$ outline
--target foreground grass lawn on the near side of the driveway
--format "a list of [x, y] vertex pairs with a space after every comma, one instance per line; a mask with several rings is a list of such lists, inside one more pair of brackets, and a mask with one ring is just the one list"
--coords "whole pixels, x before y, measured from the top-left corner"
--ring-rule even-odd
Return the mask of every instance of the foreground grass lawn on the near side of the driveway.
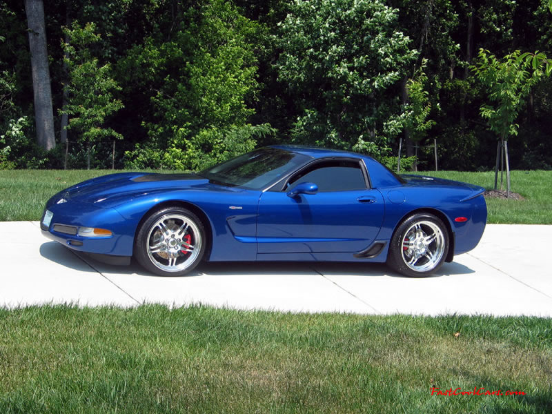
[[3, 414], [552, 412], [549, 319], [43, 306], [0, 332]]

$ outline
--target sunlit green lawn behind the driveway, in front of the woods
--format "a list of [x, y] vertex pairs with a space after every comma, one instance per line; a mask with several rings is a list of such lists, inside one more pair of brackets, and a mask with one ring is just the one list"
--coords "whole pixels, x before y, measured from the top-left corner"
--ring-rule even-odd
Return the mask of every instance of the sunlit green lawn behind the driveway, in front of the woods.
[[[63, 188], [112, 170], [0, 171], [0, 221], [39, 220], [46, 200]], [[493, 172], [424, 172], [493, 188]], [[552, 171], [512, 171], [512, 191], [524, 200], [487, 199], [489, 223], [552, 224]]]

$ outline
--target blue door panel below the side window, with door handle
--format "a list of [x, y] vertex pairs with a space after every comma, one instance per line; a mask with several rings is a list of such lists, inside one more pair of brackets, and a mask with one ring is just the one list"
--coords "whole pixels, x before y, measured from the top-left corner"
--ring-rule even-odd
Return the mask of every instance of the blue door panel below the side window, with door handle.
[[328, 191], [288, 197], [266, 191], [259, 201], [258, 253], [357, 252], [380, 231], [378, 190]]

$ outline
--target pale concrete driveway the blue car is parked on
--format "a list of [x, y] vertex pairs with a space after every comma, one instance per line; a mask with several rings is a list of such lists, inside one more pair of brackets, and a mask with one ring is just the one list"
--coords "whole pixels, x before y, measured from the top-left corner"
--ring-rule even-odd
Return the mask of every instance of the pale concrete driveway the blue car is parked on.
[[480, 245], [411, 279], [381, 264], [216, 263], [187, 277], [81, 257], [38, 221], [0, 223], [0, 306], [210, 304], [293, 312], [552, 316], [552, 226], [488, 225]]

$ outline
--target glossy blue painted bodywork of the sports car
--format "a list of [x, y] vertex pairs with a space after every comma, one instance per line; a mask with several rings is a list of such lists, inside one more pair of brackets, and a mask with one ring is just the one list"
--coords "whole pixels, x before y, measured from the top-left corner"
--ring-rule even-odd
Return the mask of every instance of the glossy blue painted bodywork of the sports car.
[[[482, 236], [486, 204], [481, 187], [431, 177], [402, 179], [371, 157], [353, 152], [271, 148], [294, 155], [290, 159], [295, 164], [293, 170], [281, 166], [266, 180], [250, 181], [266, 181], [264, 188], [230, 186], [190, 174], [106, 175], [83, 181], [48, 200], [46, 209], [53, 218], [50, 226], [42, 226], [43, 233], [75, 250], [131, 256], [141, 222], [162, 206], [180, 205], [203, 219], [209, 234], [206, 259], [210, 261], [385, 262], [397, 225], [421, 210], [446, 222], [454, 237], [454, 254], [473, 249]], [[295, 171], [330, 161], [356, 163], [359, 174], [362, 171], [366, 177], [364, 188], [320, 191], [317, 188], [324, 183], [313, 182], [298, 184], [292, 188], [293, 194], [286, 191], [286, 181]], [[66, 202], [57, 204], [62, 197]], [[455, 217], [468, 220], [459, 223]], [[88, 239], [55, 232], [55, 224], [106, 228], [113, 235]], [[70, 245], [70, 241], [82, 242], [82, 246]], [[386, 243], [379, 255], [370, 259], [353, 256], [374, 242]]]

